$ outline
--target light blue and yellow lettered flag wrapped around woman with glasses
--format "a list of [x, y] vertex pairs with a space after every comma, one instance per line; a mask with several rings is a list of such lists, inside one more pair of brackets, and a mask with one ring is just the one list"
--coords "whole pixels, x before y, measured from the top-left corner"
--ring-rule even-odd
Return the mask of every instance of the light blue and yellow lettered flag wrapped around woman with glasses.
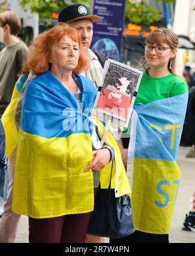
[[127, 168], [137, 231], [167, 234], [181, 172], [176, 159], [188, 93], [134, 107]]

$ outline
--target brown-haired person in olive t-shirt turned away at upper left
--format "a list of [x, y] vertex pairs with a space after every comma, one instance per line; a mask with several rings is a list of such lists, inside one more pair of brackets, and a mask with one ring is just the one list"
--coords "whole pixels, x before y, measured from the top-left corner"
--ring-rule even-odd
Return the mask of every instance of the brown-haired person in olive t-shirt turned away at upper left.
[[0, 113], [10, 103], [18, 73], [27, 57], [27, 46], [17, 35], [21, 30], [18, 14], [12, 11], [0, 14], [0, 28], [3, 29], [5, 48], [0, 52]]

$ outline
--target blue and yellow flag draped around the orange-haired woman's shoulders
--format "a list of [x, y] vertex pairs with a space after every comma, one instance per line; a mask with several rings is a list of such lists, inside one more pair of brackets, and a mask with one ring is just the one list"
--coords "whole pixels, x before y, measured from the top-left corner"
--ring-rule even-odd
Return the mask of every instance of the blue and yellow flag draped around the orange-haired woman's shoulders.
[[97, 91], [87, 78], [75, 78], [81, 104], [49, 71], [27, 86], [12, 201], [18, 214], [46, 218], [94, 209], [92, 171], [85, 168], [92, 161], [88, 116]]

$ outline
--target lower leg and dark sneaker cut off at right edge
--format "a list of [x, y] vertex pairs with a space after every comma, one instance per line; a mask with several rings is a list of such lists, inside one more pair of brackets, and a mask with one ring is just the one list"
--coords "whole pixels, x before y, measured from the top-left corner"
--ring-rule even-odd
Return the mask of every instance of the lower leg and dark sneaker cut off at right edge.
[[195, 190], [193, 191], [190, 199], [190, 211], [186, 214], [183, 227], [181, 227], [181, 229], [183, 229], [183, 231], [195, 232]]

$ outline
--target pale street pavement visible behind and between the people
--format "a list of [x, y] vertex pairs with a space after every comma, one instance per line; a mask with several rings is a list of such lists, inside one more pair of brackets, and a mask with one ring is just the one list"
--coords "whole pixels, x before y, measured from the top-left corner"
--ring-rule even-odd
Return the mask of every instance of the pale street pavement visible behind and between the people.
[[[170, 229], [170, 243], [195, 243], [195, 232], [182, 231], [185, 214], [189, 211], [190, 197], [195, 189], [195, 158], [186, 158], [189, 148], [179, 148], [177, 164], [181, 168], [181, 183], [175, 204], [174, 218]], [[28, 218], [22, 216], [16, 236], [17, 243], [28, 243]], [[105, 238], [105, 243], [109, 239]]]

